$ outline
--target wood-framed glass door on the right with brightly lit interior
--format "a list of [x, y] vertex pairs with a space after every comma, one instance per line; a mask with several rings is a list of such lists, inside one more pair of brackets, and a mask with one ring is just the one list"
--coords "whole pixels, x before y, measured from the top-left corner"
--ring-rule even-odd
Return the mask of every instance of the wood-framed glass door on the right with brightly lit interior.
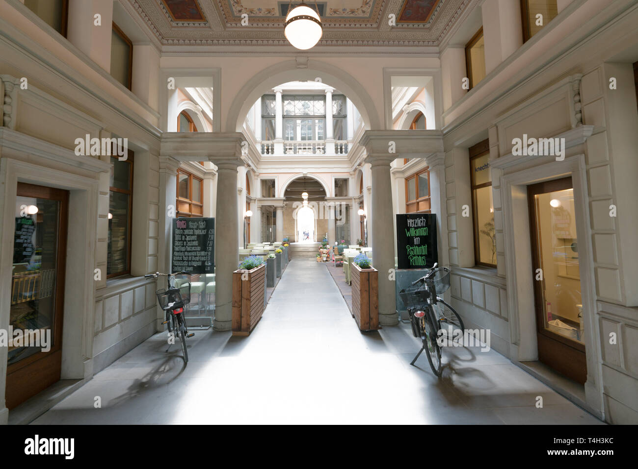
[[572, 178], [528, 186], [538, 359], [587, 379]]

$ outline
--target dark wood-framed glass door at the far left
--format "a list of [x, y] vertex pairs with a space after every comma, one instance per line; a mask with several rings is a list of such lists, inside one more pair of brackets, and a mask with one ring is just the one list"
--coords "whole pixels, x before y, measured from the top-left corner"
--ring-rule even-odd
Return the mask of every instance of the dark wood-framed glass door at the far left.
[[6, 407], [60, 379], [68, 192], [18, 183]]

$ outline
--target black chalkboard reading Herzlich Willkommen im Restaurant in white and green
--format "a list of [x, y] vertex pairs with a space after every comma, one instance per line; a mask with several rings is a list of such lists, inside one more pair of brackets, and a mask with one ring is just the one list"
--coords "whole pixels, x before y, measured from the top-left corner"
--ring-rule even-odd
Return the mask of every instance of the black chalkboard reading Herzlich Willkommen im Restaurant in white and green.
[[397, 267], [429, 268], [437, 253], [436, 213], [397, 213]]

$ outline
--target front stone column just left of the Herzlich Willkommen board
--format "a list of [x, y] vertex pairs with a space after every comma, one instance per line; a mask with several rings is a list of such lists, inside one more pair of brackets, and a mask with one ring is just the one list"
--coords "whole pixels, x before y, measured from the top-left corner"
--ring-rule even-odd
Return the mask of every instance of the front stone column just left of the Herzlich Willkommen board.
[[372, 206], [371, 213], [366, 215], [368, 229], [372, 231], [373, 267], [379, 271], [379, 323], [382, 326], [392, 326], [398, 322], [394, 281], [388, 278], [389, 270], [394, 268], [390, 163], [395, 157], [396, 155], [388, 154], [366, 157], [366, 162], [371, 164], [372, 173]]

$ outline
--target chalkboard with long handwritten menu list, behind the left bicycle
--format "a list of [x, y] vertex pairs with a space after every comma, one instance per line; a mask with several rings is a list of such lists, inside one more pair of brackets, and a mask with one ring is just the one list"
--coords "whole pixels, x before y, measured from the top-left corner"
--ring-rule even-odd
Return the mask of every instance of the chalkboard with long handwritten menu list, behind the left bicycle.
[[172, 272], [190, 275], [215, 271], [215, 219], [173, 219]]

